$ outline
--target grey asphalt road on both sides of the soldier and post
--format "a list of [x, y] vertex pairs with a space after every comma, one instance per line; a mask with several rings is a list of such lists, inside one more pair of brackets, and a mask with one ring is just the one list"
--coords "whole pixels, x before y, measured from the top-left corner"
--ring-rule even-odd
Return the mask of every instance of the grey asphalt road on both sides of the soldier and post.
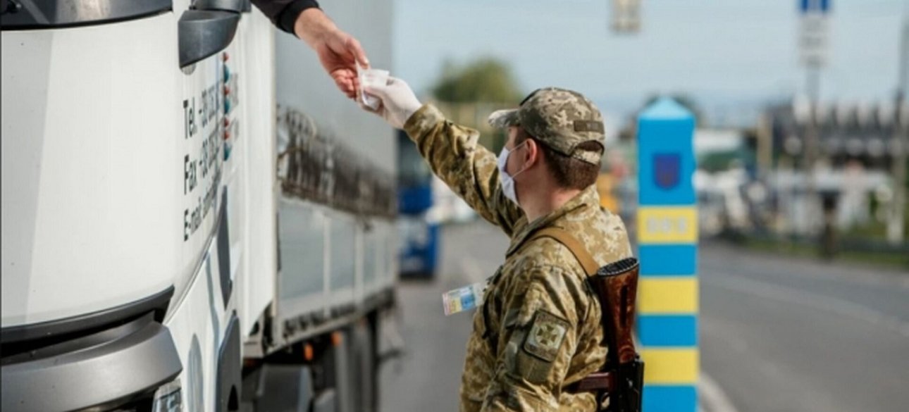
[[[406, 347], [383, 367], [384, 412], [457, 410], [473, 313], [445, 317], [441, 296], [492, 275], [507, 239], [478, 222], [441, 241], [435, 280], [399, 288]], [[699, 274], [707, 412], [909, 410], [909, 273], [706, 244]]]

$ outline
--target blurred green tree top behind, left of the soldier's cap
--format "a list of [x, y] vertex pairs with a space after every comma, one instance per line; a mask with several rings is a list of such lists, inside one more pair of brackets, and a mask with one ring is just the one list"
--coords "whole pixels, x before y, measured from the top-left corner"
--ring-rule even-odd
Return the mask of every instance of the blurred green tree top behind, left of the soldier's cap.
[[445, 62], [432, 93], [447, 103], [517, 103], [521, 98], [511, 67], [495, 57], [480, 57], [466, 65]]

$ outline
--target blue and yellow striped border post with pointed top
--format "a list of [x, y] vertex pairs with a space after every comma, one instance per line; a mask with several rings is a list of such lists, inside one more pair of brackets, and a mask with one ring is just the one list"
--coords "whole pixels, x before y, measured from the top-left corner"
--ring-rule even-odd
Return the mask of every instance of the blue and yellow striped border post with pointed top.
[[637, 233], [641, 260], [637, 333], [644, 412], [695, 412], [697, 208], [694, 116], [664, 98], [638, 117]]

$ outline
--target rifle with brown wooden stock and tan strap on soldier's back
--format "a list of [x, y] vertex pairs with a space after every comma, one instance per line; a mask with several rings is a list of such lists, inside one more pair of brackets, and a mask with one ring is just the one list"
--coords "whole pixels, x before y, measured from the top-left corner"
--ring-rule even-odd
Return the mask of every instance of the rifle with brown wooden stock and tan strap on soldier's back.
[[[626, 257], [597, 268], [599, 265], [587, 248], [563, 229], [546, 227], [529, 240], [539, 237], [552, 237], [567, 247], [584, 267], [587, 281], [600, 303], [603, 340], [609, 348], [604, 366], [568, 389], [595, 392], [597, 410], [602, 412], [640, 412], [644, 361], [634, 350], [632, 337], [640, 267], [637, 259]], [[608, 405], [604, 407], [607, 399]]]

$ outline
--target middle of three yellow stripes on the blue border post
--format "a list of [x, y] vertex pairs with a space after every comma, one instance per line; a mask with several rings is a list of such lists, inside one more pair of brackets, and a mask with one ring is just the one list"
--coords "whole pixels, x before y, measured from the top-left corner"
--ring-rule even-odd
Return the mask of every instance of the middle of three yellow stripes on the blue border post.
[[696, 277], [642, 277], [638, 282], [637, 310], [641, 314], [697, 313]]

